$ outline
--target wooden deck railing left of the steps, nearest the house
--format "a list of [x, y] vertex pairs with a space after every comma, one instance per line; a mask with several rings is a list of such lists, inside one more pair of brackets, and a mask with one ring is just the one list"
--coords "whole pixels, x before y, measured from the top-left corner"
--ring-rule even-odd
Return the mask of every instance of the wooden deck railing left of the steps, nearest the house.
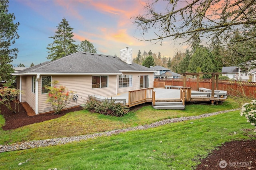
[[128, 93], [128, 107], [139, 105], [146, 102], [154, 102], [153, 95], [155, 95], [154, 88], [145, 88], [129, 91]]

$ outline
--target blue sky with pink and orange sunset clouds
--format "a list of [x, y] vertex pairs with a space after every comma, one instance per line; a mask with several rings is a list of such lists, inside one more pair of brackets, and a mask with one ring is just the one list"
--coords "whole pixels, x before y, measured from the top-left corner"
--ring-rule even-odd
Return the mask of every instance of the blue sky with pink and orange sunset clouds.
[[[70, 27], [74, 28], [73, 39], [76, 44], [82, 40], [90, 41], [97, 53], [120, 55], [120, 49], [131, 47], [133, 57], [138, 50], [153, 53], [160, 51], [164, 57], [172, 57], [175, 51], [185, 51], [186, 46], [175, 46], [170, 39], [162, 45], [155, 42], [142, 42], [139, 30], [131, 17], [143, 14], [143, 4], [139, 0], [10, 0], [9, 12], [14, 13], [19, 22], [15, 47], [19, 49], [18, 57], [13, 61], [16, 67], [23, 63], [29, 67], [33, 62], [39, 64], [48, 61], [47, 45], [53, 40], [58, 24], [66, 18]], [[161, 6], [162, 5], [162, 6]], [[159, 7], [164, 9], [165, 3]], [[150, 30], [145, 38], [150, 38], [154, 30]]]

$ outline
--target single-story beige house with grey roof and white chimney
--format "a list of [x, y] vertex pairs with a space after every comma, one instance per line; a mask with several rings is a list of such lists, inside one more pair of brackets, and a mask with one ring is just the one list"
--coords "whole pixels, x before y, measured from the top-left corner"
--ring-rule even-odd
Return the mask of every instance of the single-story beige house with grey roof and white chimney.
[[52, 111], [44, 85], [54, 80], [78, 95], [66, 108], [85, 103], [88, 95], [117, 95], [153, 87], [154, 81], [154, 71], [132, 63], [132, 49], [128, 47], [120, 51], [120, 58], [80, 51], [13, 75], [17, 76], [17, 88], [23, 91], [19, 101], [28, 103], [36, 114]]

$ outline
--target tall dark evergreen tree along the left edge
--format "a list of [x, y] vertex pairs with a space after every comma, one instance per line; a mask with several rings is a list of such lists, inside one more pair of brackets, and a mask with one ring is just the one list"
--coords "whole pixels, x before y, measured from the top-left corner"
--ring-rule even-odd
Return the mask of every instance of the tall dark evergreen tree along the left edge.
[[10, 64], [18, 56], [18, 48], [11, 48], [19, 38], [19, 23], [14, 24], [15, 16], [8, 13], [8, 0], [0, 1], [0, 80], [11, 82], [14, 69]]

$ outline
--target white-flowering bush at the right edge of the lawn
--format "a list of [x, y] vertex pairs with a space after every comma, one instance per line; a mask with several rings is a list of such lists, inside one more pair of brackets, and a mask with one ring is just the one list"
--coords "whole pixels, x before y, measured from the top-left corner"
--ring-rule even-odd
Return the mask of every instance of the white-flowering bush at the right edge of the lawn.
[[252, 100], [250, 103], [242, 105], [240, 115], [246, 117], [247, 122], [254, 126], [254, 131], [256, 132], [256, 100]]

